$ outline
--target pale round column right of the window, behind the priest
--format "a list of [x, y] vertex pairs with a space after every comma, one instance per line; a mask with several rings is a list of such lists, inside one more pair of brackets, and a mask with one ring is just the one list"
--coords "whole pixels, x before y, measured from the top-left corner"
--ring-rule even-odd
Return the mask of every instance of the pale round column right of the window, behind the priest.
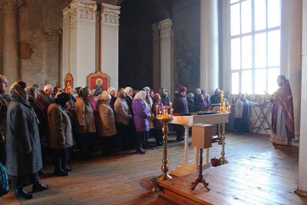
[[280, 3], [280, 73], [289, 79], [291, 86], [297, 138], [301, 118], [302, 0], [281, 0]]

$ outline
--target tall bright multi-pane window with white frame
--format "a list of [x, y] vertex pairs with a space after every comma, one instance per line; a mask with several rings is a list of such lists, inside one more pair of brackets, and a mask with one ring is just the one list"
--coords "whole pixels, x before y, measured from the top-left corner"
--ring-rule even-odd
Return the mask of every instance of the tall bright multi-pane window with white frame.
[[273, 93], [280, 62], [280, 0], [230, 0], [230, 41], [231, 93]]

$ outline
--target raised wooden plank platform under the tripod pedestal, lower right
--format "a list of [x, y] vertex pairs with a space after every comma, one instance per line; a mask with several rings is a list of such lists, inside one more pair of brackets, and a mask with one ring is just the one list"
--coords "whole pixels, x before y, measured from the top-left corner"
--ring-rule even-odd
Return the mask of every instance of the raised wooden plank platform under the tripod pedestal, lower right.
[[179, 204], [306, 204], [297, 189], [298, 147], [283, 147], [203, 171], [203, 184], [191, 190], [198, 173], [160, 183], [161, 196]]

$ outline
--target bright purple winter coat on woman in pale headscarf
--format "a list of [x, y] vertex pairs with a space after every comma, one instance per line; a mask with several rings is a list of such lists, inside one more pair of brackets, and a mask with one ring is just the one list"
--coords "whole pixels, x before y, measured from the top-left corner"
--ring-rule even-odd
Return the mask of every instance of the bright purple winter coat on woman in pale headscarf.
[[150, 118], [150, 112], [144, 101], [140, 101], [138, 99], [134, 100], [132, 102], [132, 110], [134, 114], [133, 120], [135, 130], [137, 132], [149, 131], [150, 127], [148, 118]]

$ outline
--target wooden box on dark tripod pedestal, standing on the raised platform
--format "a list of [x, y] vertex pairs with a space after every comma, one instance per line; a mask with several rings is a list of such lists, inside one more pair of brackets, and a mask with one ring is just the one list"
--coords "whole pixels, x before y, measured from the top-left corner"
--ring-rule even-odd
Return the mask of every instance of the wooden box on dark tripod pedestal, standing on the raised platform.
[[203, 183], [206, 189], [209, 191], [208, 184], [203, 178], [203, 149], [212, 147], [212, 127], [211, 124], [192, 124], [192, 145], [193, 147], [200, 148], [200, 159], [199, 159], [199, 175], [198, 178], [192, 182], [194, 186], [191, 188], [195, 189], [198, 183]]

